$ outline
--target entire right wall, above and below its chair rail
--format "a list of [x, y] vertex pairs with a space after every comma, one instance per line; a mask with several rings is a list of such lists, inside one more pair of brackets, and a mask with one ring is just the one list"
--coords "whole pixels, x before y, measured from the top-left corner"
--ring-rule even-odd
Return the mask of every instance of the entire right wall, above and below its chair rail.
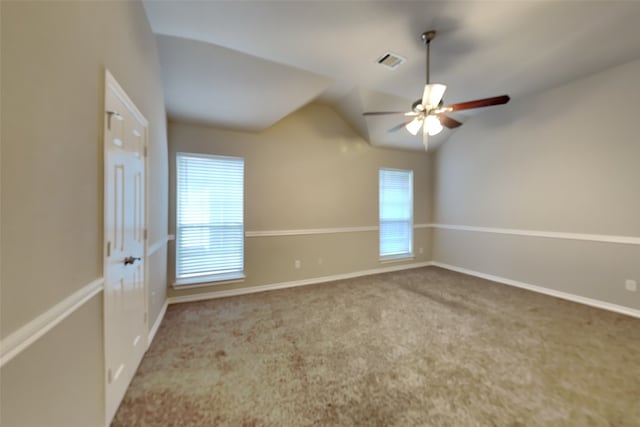
[[[441, 224], [640, 237], [640, 61], [473, 117], [435, 157]], [[434, 260], [631, 308], [640, 246], [437, 230]]]

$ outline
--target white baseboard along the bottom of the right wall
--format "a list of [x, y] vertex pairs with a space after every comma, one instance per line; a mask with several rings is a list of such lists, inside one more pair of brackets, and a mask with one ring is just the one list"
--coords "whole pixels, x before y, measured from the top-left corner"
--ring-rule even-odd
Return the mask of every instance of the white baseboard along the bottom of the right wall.
[[636, 310], [630, 307], [624, 307], [622, 305], [599, 301], [596, 299], [587, 298], [568, 292], [557, 291], [555, 289], [549, 289], [542, 286], [531, 285], [529, 283], [520, 282], [518, 280], [507, 279], [505, 277], [495, 276], [493, 274], [481, 273], [479, 271], [470, 270], [468, 268], [458, 267], [455, 265], [444, 264], [442, 262], [432, 261], [431, 265], [434, 267], [441, 267], [447, 270], [456, 271], [458, 273], [468, 274], [469, 276], [491, 280], [492, 282], [502, 283], [504, 285], [514, 286], [516, 288], [526, 289], [540, 294], [550, 295], [552, 297], [562, 298], [567, 301], [577, 302], [591, 307], [601, 308], [603, 310], [613, 311], [615, 313], [625, 314], [627, 316], [640, 319], [640, 310]]

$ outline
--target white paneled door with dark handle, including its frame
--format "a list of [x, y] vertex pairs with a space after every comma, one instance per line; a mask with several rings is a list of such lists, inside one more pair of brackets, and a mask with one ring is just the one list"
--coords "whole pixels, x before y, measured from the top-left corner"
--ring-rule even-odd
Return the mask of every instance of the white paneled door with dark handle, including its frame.
[[148, 124], [107, 71], [105, 90], [104, 346], [106, 422], [147, 346], [145, 153]]

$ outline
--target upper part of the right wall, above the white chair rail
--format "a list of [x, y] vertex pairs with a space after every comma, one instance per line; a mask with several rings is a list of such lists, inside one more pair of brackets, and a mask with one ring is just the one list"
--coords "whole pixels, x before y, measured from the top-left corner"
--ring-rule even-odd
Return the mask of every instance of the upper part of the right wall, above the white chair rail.
[[469, 120], [437, 152], [435, 221], [640, 236], [640, 60]]

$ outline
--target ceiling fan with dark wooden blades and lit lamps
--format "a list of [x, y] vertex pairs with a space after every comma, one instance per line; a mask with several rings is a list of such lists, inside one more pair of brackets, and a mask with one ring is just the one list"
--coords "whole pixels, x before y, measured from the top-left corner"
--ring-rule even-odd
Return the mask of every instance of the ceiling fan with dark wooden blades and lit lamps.
[[392, 127], [389, 129], [389, 132], [395, 132], [405, 127], [412, 135], [417, 135], [420, 127], [422, 127], [422, 142], [424, 143], [425, 150], [427, 150], [429, 146], [429, 135], [436, 135], [440, 133], [443, 125], [449, 129], [457, 128], [462, 125], [462, 123], [456, 119], [447, 116], [447, 113], [506, 104], [510, 99], [509, 95], [501, 95], [446, 106], [443, 105], [442, 97], [447, 86], [440, 83], [429, 83], [429, 45], [435, 36], [435, 31], [427, 31], [422, 33], [420, 36], [424, 44], [427, 46], [427, 83], [424, 86], [422, 99], [418, 99], [411, 106], [412, 111], [371, 111], [363, 114], [365, 116], [402, 114], [404, 116], [413, 117], [404, 123], [400, 123], [399, 125]]

